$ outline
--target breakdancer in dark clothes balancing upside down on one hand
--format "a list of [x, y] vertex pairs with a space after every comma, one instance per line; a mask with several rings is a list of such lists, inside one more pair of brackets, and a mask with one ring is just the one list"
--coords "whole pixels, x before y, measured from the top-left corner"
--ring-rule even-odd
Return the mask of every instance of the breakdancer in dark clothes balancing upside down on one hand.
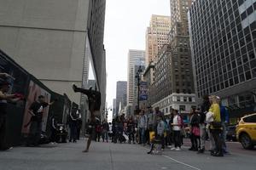
[[96, 112], [100, 111], [101, 108], [101, 93], [97, 92], [96, 90], [78, 88], [76, 85], [73, 84], [73, 91], [75, 93], [79, 92], [82, 94], [87, 95], [89, 99], [89, 110], [90, 110], [90, 124], [89, 124], [89, 138], [86, 144], [86, 149], [83, 152], [88, 152], [90, 148], [90, 142], [95, 134], [95, 127], [96, 127]]

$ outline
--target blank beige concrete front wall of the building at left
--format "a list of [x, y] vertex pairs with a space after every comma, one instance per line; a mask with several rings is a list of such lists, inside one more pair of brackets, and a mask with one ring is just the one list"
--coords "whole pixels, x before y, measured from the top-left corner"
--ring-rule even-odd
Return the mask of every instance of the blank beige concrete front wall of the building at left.
[[47, 87], [76, 103], [80, 94], [71, 93], [71, 85], [82, 84], [89, 3], [0, 1], [0, 47]]

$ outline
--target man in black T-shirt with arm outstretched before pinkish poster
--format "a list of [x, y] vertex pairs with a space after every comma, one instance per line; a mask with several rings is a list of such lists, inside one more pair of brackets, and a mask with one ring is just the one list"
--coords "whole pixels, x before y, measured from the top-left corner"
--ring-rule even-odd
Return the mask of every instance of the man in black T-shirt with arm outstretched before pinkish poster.
[[32, 103], [29, 108], [29, 113], [32, 115], [29, 134], [26, 142], [26, 146], [38, 146], [39, 139], [42, 133], [42, 121], [44, 115], [44, 108], [49, 105], [53, 105], [55, 101], [47, 103], [44, 101], [44, 96], [39, 95], [38, 101]]

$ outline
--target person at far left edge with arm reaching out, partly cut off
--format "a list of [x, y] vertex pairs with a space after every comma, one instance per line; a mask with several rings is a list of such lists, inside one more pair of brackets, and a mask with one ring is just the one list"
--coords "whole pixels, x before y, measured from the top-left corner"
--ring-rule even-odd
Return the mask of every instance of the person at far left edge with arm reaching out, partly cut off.
[[[2, 75], [3, 77], [3, 75]], [[10, 83], [3, 80], [0, 82], [0, 150], [9, 150], [9, 144], [6, 144], [6, 121], [8, 101], [16, 102], [20, 100], [15, 94], [9, 92]]]

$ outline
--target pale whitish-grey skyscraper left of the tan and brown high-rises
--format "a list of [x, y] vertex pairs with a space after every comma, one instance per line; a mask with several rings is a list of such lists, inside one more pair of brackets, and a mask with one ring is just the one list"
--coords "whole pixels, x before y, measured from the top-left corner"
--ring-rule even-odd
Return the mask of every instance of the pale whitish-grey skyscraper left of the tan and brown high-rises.
[[130, 49], [128, 53], [127, 105], [132, 105], [135, 90], [135, 65], [145, 65], [145, 51]]

